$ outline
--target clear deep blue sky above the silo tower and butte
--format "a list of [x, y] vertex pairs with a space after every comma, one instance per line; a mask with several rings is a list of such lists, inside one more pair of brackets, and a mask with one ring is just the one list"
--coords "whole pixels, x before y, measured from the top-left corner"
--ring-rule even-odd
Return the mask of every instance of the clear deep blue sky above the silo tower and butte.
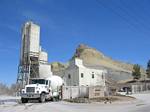
[[113, 59], [146, 67], [149, 6], [149, 0], [0, 0], [0, 82], [16, 81], [21, 27], [28, 20], [41, 26], [49, 62], [66, 62], [84, 43]]

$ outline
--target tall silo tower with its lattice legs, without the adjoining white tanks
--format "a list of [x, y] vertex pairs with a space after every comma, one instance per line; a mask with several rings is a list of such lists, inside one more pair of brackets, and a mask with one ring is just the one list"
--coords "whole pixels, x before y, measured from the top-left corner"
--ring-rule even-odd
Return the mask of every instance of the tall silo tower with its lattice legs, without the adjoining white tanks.
[[39, 49], [40, 49], [40, 27], [29, 21], [22, 28], [22, 42], [20, 63], [18, 67], [18, 81], [22, 85], [28, 83], [29, 78], [39, 75]]

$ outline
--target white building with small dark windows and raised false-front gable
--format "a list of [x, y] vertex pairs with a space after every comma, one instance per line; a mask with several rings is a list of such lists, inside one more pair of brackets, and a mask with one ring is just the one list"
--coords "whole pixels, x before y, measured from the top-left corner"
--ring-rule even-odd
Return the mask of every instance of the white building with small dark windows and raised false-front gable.
[[87, 67], [81, 59], [75, 58], [69, 67], [59, 72], [66, 86], [105, 86], [104, 69]]

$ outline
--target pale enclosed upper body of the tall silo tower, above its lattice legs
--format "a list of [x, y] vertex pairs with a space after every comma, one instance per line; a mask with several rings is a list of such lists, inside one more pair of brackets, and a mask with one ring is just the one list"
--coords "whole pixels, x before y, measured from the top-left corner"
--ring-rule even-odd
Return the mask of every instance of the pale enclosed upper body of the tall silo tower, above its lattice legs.
[[[27, 22], [22, 28], [22, 46], [20, 63], [23, 64], [27, 57], [38, 57], [40, 49], [40, 27], [33, 22]], [[28, 60], [27, 60], [28, 61]]]

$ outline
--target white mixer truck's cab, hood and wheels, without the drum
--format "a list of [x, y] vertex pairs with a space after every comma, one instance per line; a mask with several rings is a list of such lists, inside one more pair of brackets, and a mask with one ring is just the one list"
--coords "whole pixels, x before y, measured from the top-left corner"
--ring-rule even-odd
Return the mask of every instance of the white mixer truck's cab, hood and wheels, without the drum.
[[29, 84], [22, 89], [21, 101], [27, 103], [29, 100], [37, 99], [39, 102], [45, 102], [45, 100], [58, 97], [57, 94], [52, 91], [51, 80], [46, 79], [30, 79]]

